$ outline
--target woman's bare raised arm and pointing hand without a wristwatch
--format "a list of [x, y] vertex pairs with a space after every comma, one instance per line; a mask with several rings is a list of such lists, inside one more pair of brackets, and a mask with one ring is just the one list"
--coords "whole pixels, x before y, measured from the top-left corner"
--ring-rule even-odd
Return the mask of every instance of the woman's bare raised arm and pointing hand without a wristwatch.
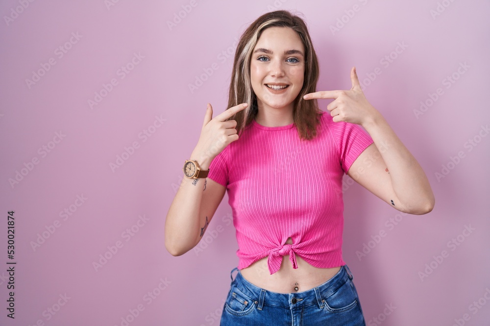
[[334, 99], [327, 109], [334, 122], [364, 127], [374, 144], [352, 163], [347, 174], [393, 208], [410, 214], [426, 214], [434, 207], [429, 180], [415, 157], [396, 136], [385, 118], [364, 96], [355, 67], [350, 90], [310, 93], [304, 99]]

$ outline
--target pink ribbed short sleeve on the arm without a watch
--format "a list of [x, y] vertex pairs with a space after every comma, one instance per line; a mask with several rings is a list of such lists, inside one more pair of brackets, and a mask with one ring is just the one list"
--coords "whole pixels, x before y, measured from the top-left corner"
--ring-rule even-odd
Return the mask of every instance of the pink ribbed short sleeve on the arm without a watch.
[[373, 143], [369, 134], [359, 125], [348, 122], [331, 122], [338, 150], [342, 169], [345, 173], [356, 158]]

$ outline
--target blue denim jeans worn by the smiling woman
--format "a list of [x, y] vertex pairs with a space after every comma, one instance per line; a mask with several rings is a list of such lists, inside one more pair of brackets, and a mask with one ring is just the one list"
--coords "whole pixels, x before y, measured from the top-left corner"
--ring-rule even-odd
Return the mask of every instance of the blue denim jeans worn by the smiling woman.
[[366, 326], [352, 278], [349, 267], [343, 265], [318, 287], [283, 294], [253, 285], [238, 270], [235, 280], [231, 277], [220, 325]]

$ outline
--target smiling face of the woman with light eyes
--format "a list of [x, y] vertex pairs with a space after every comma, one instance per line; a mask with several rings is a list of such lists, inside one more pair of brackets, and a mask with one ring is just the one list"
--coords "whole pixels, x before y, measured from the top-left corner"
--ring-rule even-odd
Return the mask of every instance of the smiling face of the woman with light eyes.
[[304, 46], [290, 27], [262, 31], [250, 60], [250, 80], [260, 109], [293, 110], [303, 87]]

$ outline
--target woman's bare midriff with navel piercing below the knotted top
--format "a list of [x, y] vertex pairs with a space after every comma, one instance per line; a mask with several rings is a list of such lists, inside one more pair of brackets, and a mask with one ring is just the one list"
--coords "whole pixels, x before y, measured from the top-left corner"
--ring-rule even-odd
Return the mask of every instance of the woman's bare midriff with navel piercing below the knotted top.
[[[286, 243], [292, 244], [293, 241], [289, 238]], [[297, 255], [298, 268], [294, 269], [288, 255], [283, 257], [281, 268], [270, 275], [267, 260], [268, 257], [265, 257], [240, 270], [240, 272], [248, 282], [267, 291], [277, 293], [296, 293], [310, 290], [330, 280], [341, 269], [341, 266], [318, 268]]]

